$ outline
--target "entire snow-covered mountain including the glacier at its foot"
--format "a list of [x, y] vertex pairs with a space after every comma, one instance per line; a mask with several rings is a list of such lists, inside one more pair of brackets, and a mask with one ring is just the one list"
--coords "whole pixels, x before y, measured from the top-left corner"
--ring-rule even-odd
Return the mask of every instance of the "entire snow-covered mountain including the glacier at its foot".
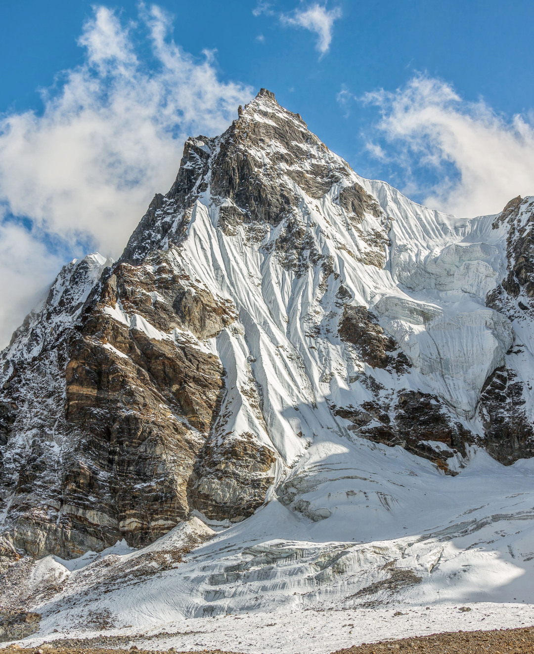
[[266, 90], [188, 139], [118, 262], [65, 266], [1, 353], [1, 603], [52, 630], [86, 598], [118, 627], [506, 599], [534, 558], [533, 224], [534, 198], [464, 220], [359, 177]]

